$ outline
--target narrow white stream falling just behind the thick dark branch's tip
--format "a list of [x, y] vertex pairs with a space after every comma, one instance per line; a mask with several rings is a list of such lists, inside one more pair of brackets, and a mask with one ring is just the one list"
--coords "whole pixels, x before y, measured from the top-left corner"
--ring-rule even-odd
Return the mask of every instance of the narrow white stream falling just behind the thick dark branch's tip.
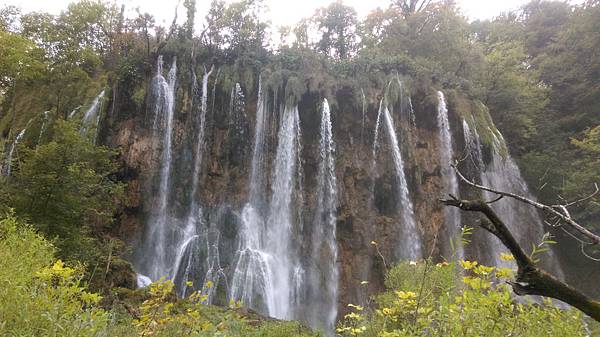
[[[444, 93], [438, 91], [438, 113], [437, 122], [439, 128], [440, 141], [440, 166], [442, 173], [442, 181], [444, 183], [444, 195], [452, 194], [458, 197], [458, 180], [452, 167], [450, 166], [454, 160], [454, 150], [452, 148], [452, 134], [450, 132], [450, 123], [448, 121], [448, 108], [446, 106], [446, 98]], [[448, 241], [453, 243], [454, 251], [447, 251], [446, 257], [449, 254], [456, 254], [457, 259], [464, 258], [462, 241], [459, 237], [461, 226], [460, 211], [456, 207], [444, 207], [444, 231]]]

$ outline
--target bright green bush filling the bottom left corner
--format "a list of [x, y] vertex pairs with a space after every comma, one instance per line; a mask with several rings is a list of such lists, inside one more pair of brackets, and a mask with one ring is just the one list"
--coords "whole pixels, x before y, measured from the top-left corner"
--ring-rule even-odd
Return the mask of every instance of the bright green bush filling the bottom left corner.
[[96, 336], [108, 323], [82, 270], [54, 260], [54, 248], [14, 216], [0, 220], [0, 335]]

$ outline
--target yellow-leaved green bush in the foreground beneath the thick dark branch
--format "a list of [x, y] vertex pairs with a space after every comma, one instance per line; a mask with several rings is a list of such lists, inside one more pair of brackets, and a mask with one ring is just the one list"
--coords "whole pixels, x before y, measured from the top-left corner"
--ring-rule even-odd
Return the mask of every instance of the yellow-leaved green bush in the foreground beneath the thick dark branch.
[[403, 263], [389, 272], [388, 291], [377, 297], [377, 308], [350, 305], [337, 331], [382, 337], [586, 335], [583, 317], [573, 309], [550, 301], [515, 302], [502, 284], [512, 275], [510, 269], [472, 261]]

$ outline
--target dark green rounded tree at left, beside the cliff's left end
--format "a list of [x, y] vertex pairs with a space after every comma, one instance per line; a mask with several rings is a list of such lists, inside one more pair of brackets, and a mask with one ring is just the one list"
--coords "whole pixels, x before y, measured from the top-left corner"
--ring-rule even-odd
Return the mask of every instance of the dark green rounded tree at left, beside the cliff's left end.
[[55, 239], [62, 258], [96, 261], [91, 233], [111, 225], [123, 192], [115, 152], [92, 145], [71, 122], [58, 121], [52, 134], [47, 144], [19, 149], [14, 176], [1, 188], [6, 204]]

